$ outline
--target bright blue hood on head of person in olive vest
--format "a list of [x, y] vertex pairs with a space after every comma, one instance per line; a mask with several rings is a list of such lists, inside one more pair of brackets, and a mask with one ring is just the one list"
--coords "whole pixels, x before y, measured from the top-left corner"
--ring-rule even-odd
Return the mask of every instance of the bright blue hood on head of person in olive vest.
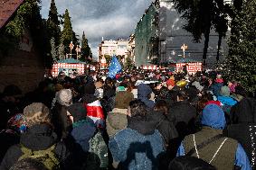
[[202, 124], [213, 129], [223, 130], [226, 125], [223, 109], [216, 104], [208, 104], [202, 113]]

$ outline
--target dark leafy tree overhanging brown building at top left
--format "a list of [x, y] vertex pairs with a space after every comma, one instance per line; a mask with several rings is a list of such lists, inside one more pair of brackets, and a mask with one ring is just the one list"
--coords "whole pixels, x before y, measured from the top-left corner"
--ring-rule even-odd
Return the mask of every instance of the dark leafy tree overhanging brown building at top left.
[[17, 9], [14, 17], [7, 23], [3, 31], [4, 37], [0, 37], [0, 45], [8, 45], [7, 48], [1, 45], [0, 50], [4, 53], [14, 50], [19, 46], [21, 38], [26, 30], [30, 30], [33, 47], [36, 49], [44, 67], [52, 67], [50, 40], [48, 40], [47, 24], [40, 14], [40, 0], [26, 0]]

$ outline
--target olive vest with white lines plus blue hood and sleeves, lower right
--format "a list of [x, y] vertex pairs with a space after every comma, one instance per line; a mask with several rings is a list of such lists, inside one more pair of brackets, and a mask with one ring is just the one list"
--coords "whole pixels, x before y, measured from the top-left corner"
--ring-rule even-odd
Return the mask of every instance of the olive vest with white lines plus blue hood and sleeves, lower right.
[[[204, 107], [201, 122], [204, 125], [203, 130], [186, 136], [178, 148], [177, 156], [185, 156], [185, 153], [188, 153], [191, 148], [194, 148], [194, 143], [198, 145], [206, 139], [210, 139], [217, 134], [222, 134], [223, 128], [226, 125], [224, 112], [216, 104], [208, 104]], [[221, 147], [222, 143], [223, 146]], [[220, 148], [219, 151], [217, 150], [218, 148]], [[217, 154], [213, 158], [214, 153]], [[192, 156], [196, 157], [196, 154], [194, 153]], [[211, 158], [213, 158], [211, 164], [216, 166], [217, 169], [232, 169], [233, 165], [240, 166], [242, 170], [251, 170], [250, 161], [245, 151], [234, 139], [217, 139], [204, 148], [199, 149], [198, 156], [206, 162], [210, 162]], [[233, 163], [231, 162], [232, 160]]]

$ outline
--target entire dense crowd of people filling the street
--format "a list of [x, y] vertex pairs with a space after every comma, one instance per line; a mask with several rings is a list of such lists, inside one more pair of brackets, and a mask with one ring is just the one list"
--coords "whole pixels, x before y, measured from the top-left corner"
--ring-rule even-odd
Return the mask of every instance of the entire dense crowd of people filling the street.
[[61, 72], [5, 86], [0, 170], [251, 170], [255, 122], [255, 96], [221, 72]]

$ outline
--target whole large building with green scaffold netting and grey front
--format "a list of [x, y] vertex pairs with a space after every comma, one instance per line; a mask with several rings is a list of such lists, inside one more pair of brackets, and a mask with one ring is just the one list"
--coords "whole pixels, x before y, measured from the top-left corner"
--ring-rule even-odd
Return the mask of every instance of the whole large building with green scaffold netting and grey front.
[[[230, 1], [226, 3], [230, 3]], [[153, 22], [155, 24], [152, 24]], [[156, 0], [152, 3], [137, 22], [135, 29], [136, 66], [148, 65], [148, 63], [153, 63], [154, 59], [160, 64], [175, 62], [184, 56], [202, 61], [204, 36], [199, 43], [195, 43], [192, 34], [183, 29], [185, 22], [185, 19], [181, 18], [181, 14], [175, 10], [172, 1]], [[218, 33], [211, 31], [206, 57], [208, 66], [216, 63], [218, 39]], [[153, 44], [157, 44], [155, 47], [158, 46], [158, 48], [153, 48]], [[183, 45], [186, 47], [185, 51], [181, 49]], [[223, 60], [225, 52], [227, 52], [227, 43], [223, 39], [220, 61]]]

